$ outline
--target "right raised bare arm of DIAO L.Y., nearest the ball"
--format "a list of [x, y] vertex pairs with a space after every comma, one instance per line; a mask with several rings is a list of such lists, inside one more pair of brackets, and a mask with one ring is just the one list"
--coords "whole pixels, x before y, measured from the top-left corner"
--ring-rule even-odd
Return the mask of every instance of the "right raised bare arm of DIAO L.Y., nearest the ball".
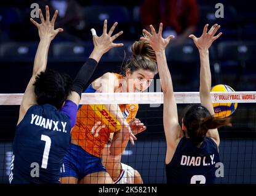
[[[218, 39], [222, 35], [222, 32], [220, 32], [217, 36], [215, 36], [216, 32], [220, 28], [220, 25], [215, 24], [210, 28], [209, 32], [207, 32], [207, 27], [204, 26], [204, 31], [202, 32], [201, 37], [195, 37], [194, 35], [190, 35], [189, 37], [193, 39], [194, 43], [196, 44], [196, 47], [198, 47], [199, 50], [199, 56], [200, 56], [200, 100], [201, 105], [206, 107], [207, 110], [210, 111], [211, 115], [214, 115], [214, 107], [212, 106], [212, 99], [210, 96], [210, 89], [212, 86], [212, 78], [210, 74], [210, 62], [209, 62], [209, 48], [212, 45], [212, 42], [214, 40]], [[220, 143], [220, 137], [218, 135], [217, 129], [210, 129], [207, 132], [207, 137], [211, 137], [215, 140], [217, 145]]]

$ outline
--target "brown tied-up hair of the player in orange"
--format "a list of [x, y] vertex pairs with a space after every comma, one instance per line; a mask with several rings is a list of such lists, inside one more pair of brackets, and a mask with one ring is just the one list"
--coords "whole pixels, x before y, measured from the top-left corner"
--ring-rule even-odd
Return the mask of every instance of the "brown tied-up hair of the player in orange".
[[[146, 36], [144, 36], [146, 37]], [[156, 64], [156, 54], [150, 43], [140, 40], [132, 44], [132, 58], [121, 67], [121, 74], [126, 76], [126, 70], [130, 69], [131, 74], [138, 69], [150, 70], [154, 74], [158, 74], [158, 66]]]

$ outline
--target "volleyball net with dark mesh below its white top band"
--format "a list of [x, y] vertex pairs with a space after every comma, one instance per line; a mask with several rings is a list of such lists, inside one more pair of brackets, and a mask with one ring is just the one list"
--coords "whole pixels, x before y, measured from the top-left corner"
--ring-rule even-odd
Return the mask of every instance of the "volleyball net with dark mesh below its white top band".
[[[23, 94], [0, 94], [0, 183], [8, 183], [12, 140], [22, 96]], [[238, 103], [236, 111], [231, 115], [233, 126], [219, 129], [220, 161], [224, 165], [224, 172], [222, 177], [216, 179], [216, 182], [256, 183], [256, 92], [212, 92], [211, 96], [212, 102], [220, 105], [228, 106], [230, 103]], [[175, 99], [180, 119], [186, 105], [200, 103], [199, 92], [175, 92]], [[97, 110], [100, 111], [102, 110], [100, 107], [106, 104], [119, 104], [126, 118], [133, 112], [135, 104], [138, 104], [139, 108], [135, 117], [145, 124], [146, 130], [136, 135], [137, 141], [134, 146], [128, 143], [122, 154], [121, 162], [137, 170], [142, 176], [143, 183], [166, 183], [164, 164], [166, 140], [162, 124], [162, 103], [162, 92], [82, 94], [78, 121], [89, 125], [88, 119], [85, 122], [81, 112], [89, 116], [92, 112], [90, 110], [95, 111], [98, 106]], [[114, 116], [103, 112], [100, 112], [98, 116], [102, 118], [101, 122], [105, 123], [100, 124], [101, 128], [113, 126], [111, 123], [114, 122]], [[92, 127], [94, 131], [91, 132], [93, 139], [90, 143], [93, 144], [96, 142], [94, 141], [95, 135], [100, 135], [100, 129], [97, 129], [95, 124]], [[96, 148], [90, 147], [92, 150]]]

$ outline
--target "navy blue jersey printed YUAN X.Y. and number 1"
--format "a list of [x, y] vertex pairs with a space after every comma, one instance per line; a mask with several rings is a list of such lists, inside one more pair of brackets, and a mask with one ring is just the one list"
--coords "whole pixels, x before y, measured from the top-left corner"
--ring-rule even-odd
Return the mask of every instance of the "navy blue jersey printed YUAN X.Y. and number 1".
[[49, 104], [30, 107], [16, 128], [10, 183], [59, 183], [70, 130], [66, 113]]

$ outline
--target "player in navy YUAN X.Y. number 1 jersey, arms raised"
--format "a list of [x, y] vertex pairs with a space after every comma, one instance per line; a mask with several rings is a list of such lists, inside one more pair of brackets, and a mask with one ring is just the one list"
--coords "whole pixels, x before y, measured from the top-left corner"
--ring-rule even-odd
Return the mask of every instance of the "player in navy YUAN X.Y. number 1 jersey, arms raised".
[[[34, 59], [33, 75], [26, 87], [15, 132], [10, 183], [59, 183], [63, 156], [70, 144], [70, 130], [76, 123], [81, 92], [97, 67], [97, 62], [113, 47], [113, 40], [98, 39], [90, 58], [81, 67], [72, 85], [68, 75], [46, 70], [50, 42], [63, 29], [54, 29], [57, 10], [50, 21], [39, 9], [40, 42]], [[122, 32], [119, 32], [121, 34]], [[119, 35], [118, 34], [118, 35]], [[116, 35], [116, 37], [118, 36]]]

